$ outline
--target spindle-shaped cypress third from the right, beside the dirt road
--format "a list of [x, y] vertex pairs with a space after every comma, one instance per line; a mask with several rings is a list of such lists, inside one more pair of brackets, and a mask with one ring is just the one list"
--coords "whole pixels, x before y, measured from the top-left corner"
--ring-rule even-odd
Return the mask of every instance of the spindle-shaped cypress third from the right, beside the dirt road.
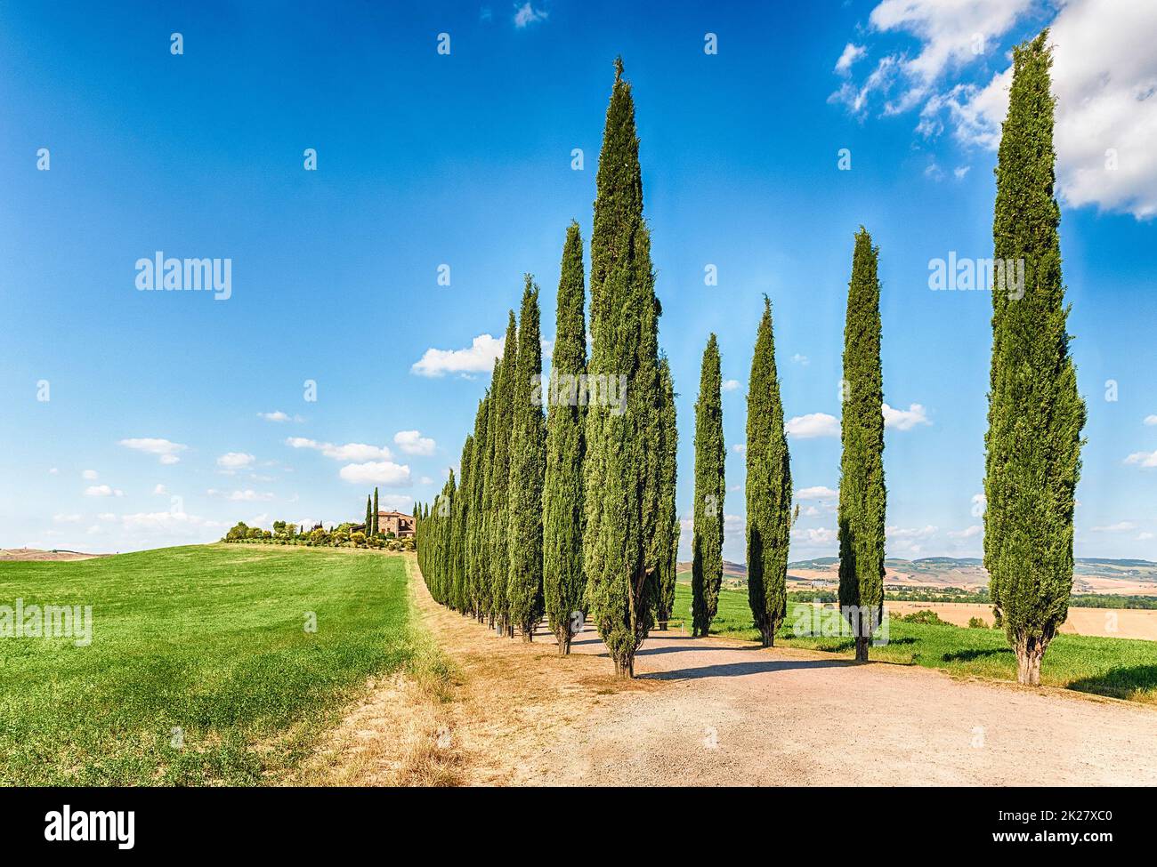
[[747, 602], [764, 646], [787, 616], [788, 542], [791, 532], [791, 462], [775, 370], [772, 302], [756, 336], [747, 385]]

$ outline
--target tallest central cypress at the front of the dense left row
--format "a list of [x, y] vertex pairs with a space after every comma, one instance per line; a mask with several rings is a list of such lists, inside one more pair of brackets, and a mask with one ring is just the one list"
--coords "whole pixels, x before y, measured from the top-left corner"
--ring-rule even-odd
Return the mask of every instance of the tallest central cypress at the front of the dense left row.
[[[591, 234], [594, 340], [589, 376], [603, 398], [587, 408], [583, 563], [587, 599], [619, 676], [634, 674], [639, 644], [654, 623], [657, 524], [658, 361], [650, 244], [634, 99], [616, 61], [598, 162]], [[620, 384], [626, 383], [625, 393]], [[611, 386], [617, 400], [610, 400]]]

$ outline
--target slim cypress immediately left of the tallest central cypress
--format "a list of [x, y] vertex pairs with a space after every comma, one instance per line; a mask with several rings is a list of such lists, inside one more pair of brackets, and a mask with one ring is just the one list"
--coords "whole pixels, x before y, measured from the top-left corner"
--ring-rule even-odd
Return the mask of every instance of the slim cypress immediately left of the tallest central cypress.
[[[546, 479], [543, 489], [543, 595], [559, 653], [570, 652], [570, 615], [583, 607], [583, 484], [585, 400], [578, 377], [587, 372], [583, 319], [582, 235], [570, 223], [562, 245], [554, 350], [546, 416]], [[585, 395], [582, 395], [585, 398]]]

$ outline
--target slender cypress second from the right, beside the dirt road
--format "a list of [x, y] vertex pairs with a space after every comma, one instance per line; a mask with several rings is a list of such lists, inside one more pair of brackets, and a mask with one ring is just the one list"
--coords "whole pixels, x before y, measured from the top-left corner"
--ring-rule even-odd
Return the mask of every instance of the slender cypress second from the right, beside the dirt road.
[[884, 377], [879, 363], [879, 250], [856, 234], [843, 326], [840, 440], [840, 610], [855, 635], [856, 659], [884, 610]]

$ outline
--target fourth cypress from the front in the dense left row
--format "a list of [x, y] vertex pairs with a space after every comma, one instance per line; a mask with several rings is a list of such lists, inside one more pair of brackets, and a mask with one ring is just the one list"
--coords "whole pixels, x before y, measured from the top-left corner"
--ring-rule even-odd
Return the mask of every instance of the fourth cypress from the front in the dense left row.
[[491, 429], [491, 440], [494, 453], [491, 460], [491, 605], [494, 610], [494, 622], [499, 631], [514, 633], [510, 621], [510, 598], [507, 593], [507, 579], [510, 573], [508, 539], [510, 532], [510, 432], [514, 427], [514, 386], [515, 370], [518, 356], [518, 329], [514, 311], [507, 321], [506, 340], [502, 344], [502, 362], [499, 365], [498, 381], [492, 386], [494, 394], [494, 427]]

